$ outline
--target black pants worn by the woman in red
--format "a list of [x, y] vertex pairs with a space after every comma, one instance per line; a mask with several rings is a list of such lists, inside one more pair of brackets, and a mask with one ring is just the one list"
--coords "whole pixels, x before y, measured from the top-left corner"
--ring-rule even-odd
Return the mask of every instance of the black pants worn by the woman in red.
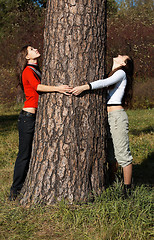
[[35, 114], [24, 115], [26, 112], [21, 111], [18, 118], [19, 129], [19, 152], [14, 167], [13, 184], [11, 193], [17, 195], [27, 176], [29, 161], [32, 151], [32, 142], [35, 128]]

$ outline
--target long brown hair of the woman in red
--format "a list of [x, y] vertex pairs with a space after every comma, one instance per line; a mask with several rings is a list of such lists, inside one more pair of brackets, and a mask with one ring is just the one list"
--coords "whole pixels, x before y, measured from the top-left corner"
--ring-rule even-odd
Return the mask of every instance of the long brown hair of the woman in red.
[[26, 56], [28, 54], [28, 48], [29, 45], [26, 45], [22, 47], [20, 52], [17, 55], [17, 67], [16, 67], [16, 74], [17, 74], [17, 79], [19, 81], [19, 85], [21, 86], [23, 90], [23, 84], [22, 84], [22, 72], [25, 69], [27, 65], [27, 59]]

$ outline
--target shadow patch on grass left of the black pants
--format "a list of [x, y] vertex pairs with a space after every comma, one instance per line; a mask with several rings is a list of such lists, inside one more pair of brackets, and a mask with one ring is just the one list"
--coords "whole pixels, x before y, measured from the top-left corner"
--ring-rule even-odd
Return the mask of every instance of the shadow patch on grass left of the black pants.
[[19, 114], [0, 116], [0, 132], [8, 133], [12, 131], [12, 128], [17, 128], [18, 116]]

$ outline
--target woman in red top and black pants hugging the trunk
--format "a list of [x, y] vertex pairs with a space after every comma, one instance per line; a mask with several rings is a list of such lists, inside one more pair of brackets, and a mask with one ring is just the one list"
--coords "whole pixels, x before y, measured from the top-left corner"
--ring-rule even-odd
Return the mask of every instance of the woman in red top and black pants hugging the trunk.
[[24, 90], [26, 101], [18, 118], [19, 152], [15, 162], [10, 200], [15, 200], [25, 181], [29, 168], [34, 136], [38, 92], [59, 92], [69, 95], [67, 85], [48, 86], [41, 84], [41, 71], [37, 64], [40, 53], [31, 46], [21, 49], [17, 57], [17, 77]]

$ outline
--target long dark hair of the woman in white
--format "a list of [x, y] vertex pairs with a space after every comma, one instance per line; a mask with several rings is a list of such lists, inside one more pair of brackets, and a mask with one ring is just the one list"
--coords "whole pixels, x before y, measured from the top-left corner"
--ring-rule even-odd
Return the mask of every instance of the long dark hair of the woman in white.
[[[124, 93], [124, 96], [123, 96], [122, 104], [125, 105], [125, 106], [128, 106], [128, 107], [131, 107], [132, 97], [133, 97], [133, 82], [134, 82], [134, 79], [133, 79], [134, 61], [133, 61], [133, 59], [131, 57], [128, 57], [125, 60], [125, 63], [126, 63], [125, 66], [120, 66], [120, 67], [114, 69], [113, 71], [111, 71], [109, 73], [108, 76], [112, 76], [113, 73], [115, 73], [119, 69], [122, 69], [126, 73], [127, 85], [126, 85], [126, 88], [125, 88], [125, 93]], [[112, 85], [109, 88], [113, 88], [114, 85]]]

